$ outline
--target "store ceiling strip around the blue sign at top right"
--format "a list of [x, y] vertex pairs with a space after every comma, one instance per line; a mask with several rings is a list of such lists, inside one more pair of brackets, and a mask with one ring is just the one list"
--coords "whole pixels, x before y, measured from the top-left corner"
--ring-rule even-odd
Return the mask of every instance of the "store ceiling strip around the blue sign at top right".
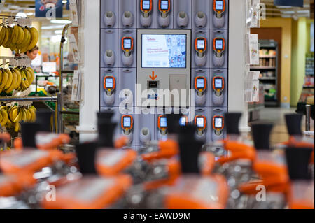
[[304, 7], [274, 6], [274, 0], [260, 0], [266, 6], [267, 17], [312, 17], [314, 18], [314, 0], [304, 0]]

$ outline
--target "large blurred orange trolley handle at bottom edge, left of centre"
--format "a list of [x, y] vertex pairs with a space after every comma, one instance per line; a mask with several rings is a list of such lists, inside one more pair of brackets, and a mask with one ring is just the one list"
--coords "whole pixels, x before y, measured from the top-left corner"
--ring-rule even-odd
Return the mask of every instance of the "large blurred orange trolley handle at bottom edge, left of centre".
[[132, 185], [128, 175], [101, 178], [88, 175], [56, 190], [56, 202], [43, 199], [45, 209], [101, 209], [109, 208]]

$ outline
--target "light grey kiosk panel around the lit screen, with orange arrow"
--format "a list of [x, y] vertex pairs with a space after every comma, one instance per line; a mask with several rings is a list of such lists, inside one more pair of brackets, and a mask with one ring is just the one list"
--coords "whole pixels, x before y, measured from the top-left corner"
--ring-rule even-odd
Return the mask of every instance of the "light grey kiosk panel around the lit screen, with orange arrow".
[[[186, 34], [186, 68], [165, 68], [165, 67], [142, 67], [142, 34], [167, 34], [167, 35], [179, 35]], [[152, 100], [152, 105], [158, 107], [158, 99], [162, 99], [158, 94], [159, 90], [169, 89], [172, 92], [173, 89], [186, 89], [187, 95], [191, 89], [191, 50], [192, 49], [192, 30], [191, 29], [138, 29], [137, 30], [137, 84], [141, 86], [136, 89], [136, 105], [141, 106], [146, 100]], [[151, 78], [154, 77], [154, 78]], [[148, 87], [148, 81], [158, 81], [159, 85], [156, 89]], [[179, 81], [179, 82], [178, 82]], [[179, 84], [177, 84], [179, 83]], [[150, 89], [153, 97], [139, 97], [143, 91]], [[153, 91], [153, 92], [152, 92]], [[179, 91], [180, 92], [180, 91]], [[173, 100], [174, 97], [169, 97], [164, 100], [163, 106], [181, 106], [179, 102]], [[186, 104], [190, 105], [191, 97], [186, 97]]]

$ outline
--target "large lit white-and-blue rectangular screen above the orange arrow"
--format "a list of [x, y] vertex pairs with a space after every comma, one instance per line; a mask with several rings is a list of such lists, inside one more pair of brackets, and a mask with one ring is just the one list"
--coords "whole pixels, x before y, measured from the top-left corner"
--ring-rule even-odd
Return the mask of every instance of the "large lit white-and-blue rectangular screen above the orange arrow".
[[142, 34], [142, 67], [186, 68], [186, 34]]

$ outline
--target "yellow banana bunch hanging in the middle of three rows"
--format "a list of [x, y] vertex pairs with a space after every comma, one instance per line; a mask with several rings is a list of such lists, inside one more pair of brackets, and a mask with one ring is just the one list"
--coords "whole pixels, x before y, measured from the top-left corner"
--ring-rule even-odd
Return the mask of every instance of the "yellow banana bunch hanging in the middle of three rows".
[[0, 94], [10, 94], [13, 90], [25, 91], [35, 78], [34, 70], [30, 67], [0, 69]]

